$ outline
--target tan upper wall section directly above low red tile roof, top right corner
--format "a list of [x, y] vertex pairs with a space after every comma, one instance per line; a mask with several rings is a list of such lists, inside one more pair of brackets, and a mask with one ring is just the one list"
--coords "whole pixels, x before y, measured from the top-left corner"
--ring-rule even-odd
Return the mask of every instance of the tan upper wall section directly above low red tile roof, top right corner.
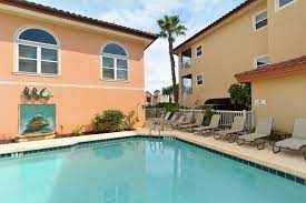
[[275, 0], [268, 1], [269, 54], [273, 63], [306, 54], [306, 1], [277, 10]]

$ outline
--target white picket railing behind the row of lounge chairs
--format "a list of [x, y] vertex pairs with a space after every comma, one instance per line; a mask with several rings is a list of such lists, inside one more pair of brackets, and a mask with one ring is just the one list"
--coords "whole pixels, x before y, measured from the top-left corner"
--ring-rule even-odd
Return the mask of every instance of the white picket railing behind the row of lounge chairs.
[[[179, 111], [181, 113], [193, 112], [194, 115], [199, 112], [203, 112], [203, 113], [205, 112], [205, 110], [190, 110], [190, 109], [189, 110], [180, 109]], [[220, 111], [220, 110], [216, 110], [214, 112], [215, 112], [215, 114], [221, 115], [220, 126], [229, 128], [229, 126], [231, 126], [235, 116], [246, 115], [246, 118], [247, 118], [246, 129], [248, 131], [250, 131], [255, 128], [254, 111]]]

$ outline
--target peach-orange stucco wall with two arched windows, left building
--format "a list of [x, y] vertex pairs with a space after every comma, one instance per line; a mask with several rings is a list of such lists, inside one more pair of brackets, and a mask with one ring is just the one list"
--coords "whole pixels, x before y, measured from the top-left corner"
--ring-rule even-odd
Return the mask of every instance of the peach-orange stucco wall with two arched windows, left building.
[[[14, 35], [20, 28], [36, 26], [51, 31], [60, 42], [61, 75], [29, 77], [13, 74], [16, 60]], [[48, 103], [57, 104], [57, 126], [65, 132], [81, 124], [89, 124], [92, 115], [108, 109], [125, 112], [138, 110], [144, 123], [145, 78], [144, 49], [138, 41], [112, 35], [90, 33], [73, 28], [0, 13], [0, 135], [18, 133], [18, 106], [26, 82], [38, 89], [48, 88], [55, 98]], [[100, 49], [108, 42], [117, 42], [129, 54], [129, 81], [108, 82], [100, 80]], [[10, 84], [10, 83], [13, 83]], [[138, 108], [137, 108], [138, 106]]]

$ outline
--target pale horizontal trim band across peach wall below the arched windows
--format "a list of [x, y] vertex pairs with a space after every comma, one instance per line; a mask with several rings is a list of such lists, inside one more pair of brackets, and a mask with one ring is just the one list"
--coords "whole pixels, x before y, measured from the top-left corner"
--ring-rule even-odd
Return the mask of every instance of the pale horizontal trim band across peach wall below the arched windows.
[[144, 87], [110, 87], [110, 85], [99, 85], [99, 84], [95, 85], [95, 84], [52, 83], [52, 82], [23, 82], [23, 81], [13, 81], [13, 80], [11, 81], [0, 80], [0, 85], [28, 85], [28, 87], [145, 91]]

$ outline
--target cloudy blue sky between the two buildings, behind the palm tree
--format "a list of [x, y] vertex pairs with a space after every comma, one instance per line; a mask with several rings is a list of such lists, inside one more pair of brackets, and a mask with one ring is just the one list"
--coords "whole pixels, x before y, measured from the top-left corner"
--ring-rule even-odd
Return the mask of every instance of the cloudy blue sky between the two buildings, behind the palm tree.
[[[31, 0], [37, 3], [158, 33], [156, 21], [178, 14], [188, 29], [175, 47], [213, 23], [245, 0]], [[176, 63], [177, 64], [177, 63]], [[146, 50], [146, 90], [171, 85], [168, 42], [158, 39]]]

